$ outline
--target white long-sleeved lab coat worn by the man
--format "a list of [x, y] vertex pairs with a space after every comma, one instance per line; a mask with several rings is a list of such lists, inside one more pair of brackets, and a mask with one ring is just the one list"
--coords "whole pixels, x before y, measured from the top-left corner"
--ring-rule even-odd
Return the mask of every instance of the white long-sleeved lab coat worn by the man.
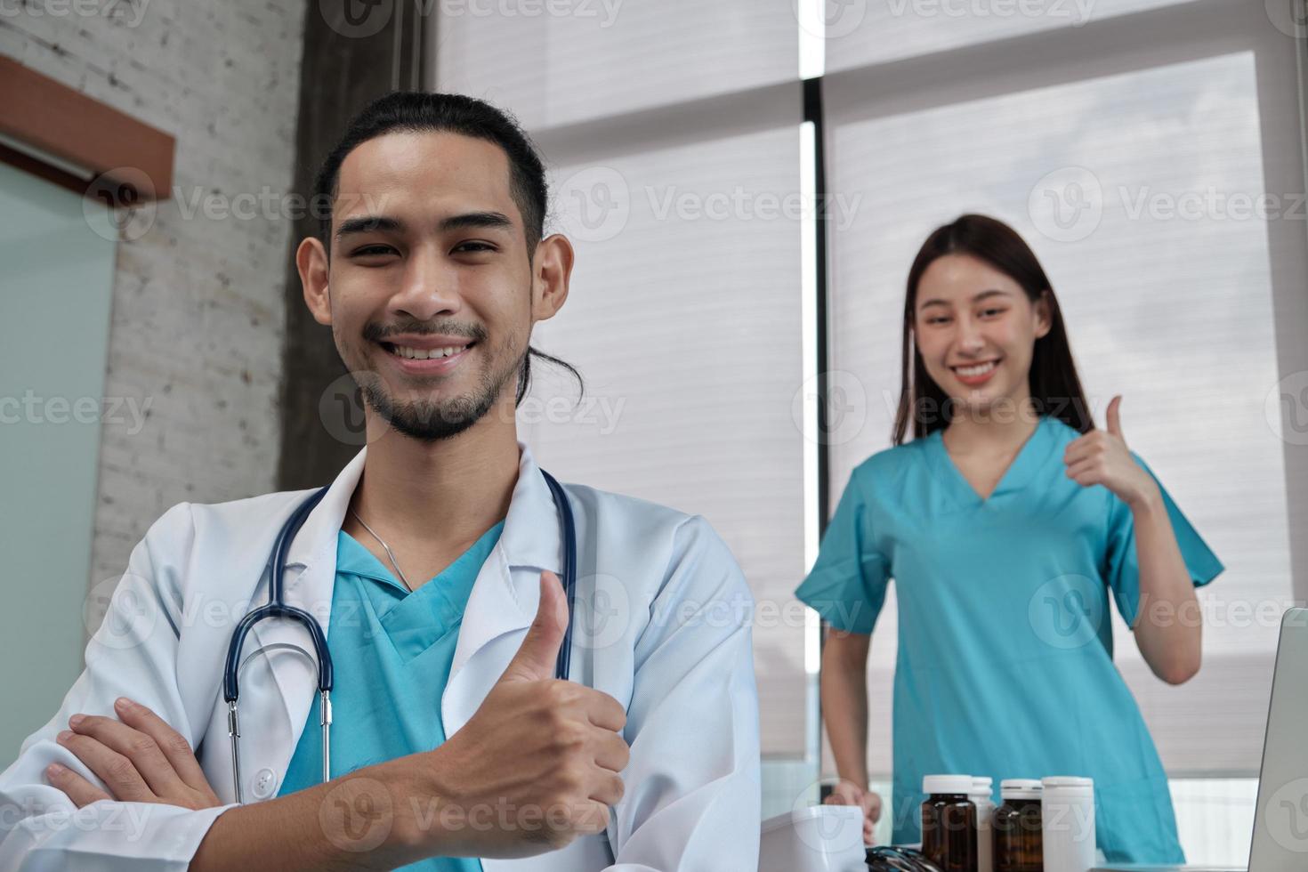
[[[519, 448], [504, 531], [472, 587], [441, 699], [450, 735], [463, 728], [517, 652], [536, 612], [540, 570], [562, 570], [549, 489], [526, 444]], [[365, 454], [332, 482], [286, 563], [285, 601], [318, 617], [324, 630], [336, 536]], [[627, 709], [627, 792], [606, 834], [536, 858], [483, 860], [485, 872], [752, 872], [760, 828], [759, 711], [752, 599], [740, 569], [698, 515], [564, 486], [578, 537], [572, 679]], [[209, 825], [235, 799], [221, 688], [232, 629], [251, 603], [267, 601], [273, 537], [310, 493], [179, 503], [154, 522], [86, 646], [86, 669], [55, 716], [0, 774], [0, 869], [187, 868]], [[309, 647], [294, 624], [268, 620], [251, 630], [245, 652], [277, 642]], [[314, 668], [285, 651], [256, 658], [241, 679], [241, 773], [251, 803], [276, 796], [317, 684]], [[114, 716], [119, 696], [153, 709], [199, 749], [209, 783], [228, 805], [188, 811], [101, 801], [76, 811], [50, 786], [44, 769], [56, 761], [102, 784], [55, 743], [55, 733], [78, 711]], [[340, 735], [352, 727], [340, 715], [332, 729]]]

